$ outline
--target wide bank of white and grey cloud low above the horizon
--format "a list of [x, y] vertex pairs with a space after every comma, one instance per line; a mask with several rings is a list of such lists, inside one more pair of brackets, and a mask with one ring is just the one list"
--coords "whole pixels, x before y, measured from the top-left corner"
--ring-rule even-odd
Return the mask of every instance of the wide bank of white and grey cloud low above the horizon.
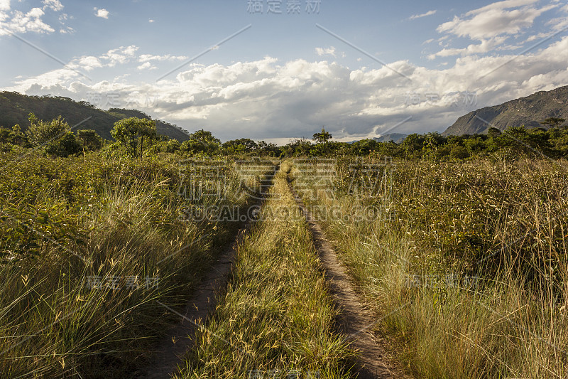
[[[172, 58], [139, 55], [137, 46], [121, 46], [97, 57], [75, 58], [67, 68], [17, 79], [4, 90], [87, 101], [89, 93], [113, 93], [121, 100], [118, 107], [136, 107], [222, 139], [310, 136], [322, 124], [334, 137], [359, 139], [381, 134], [410, 116], [393, 132], [442, 131], [479, 107], [568, 84], [568, 36], [525, 55], [463, 55], [436, 69], [405, 60], [389, 63], [411, 81], [386, 67], [351, 69], [327, 60], [273, 57], [230, 65], [192, 63], [160, 82], [121, 75], [92, 83], [70, 69], [109, 70], [124, 64], [126, 70], [151, 70], [153, 62]], [[129, 101], [133, 97], [138, 105]], [[465, 101], [474, 97], [476, 102]], [[155, 98], [159, 101], [153, 105], [144, 101]]]

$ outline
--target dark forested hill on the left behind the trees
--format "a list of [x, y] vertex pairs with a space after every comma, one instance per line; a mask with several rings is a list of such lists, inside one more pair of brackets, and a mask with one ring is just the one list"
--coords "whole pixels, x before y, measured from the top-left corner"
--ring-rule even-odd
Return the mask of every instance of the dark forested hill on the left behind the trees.
[[[151, 119], [148, 114], [138, 110], [121, 110], [111, 108], [99, 110], [88, 102], [76, 102], [68, 97], [27, 96], [18, 92], [0, 92], [0, 126], [13, 127], [20, 124], [22, 130], [28, 127], [28, 114], [33, 112], [38, 119], [51, 120], [61, 115], [72, 129], [94, 129], [104, 139], [112, 139], [111, 129], [119, 119], [139, 117]], [[156, 131], [182, 142], [189, 138], [187, 132], [173, 124], [155, 120]]]

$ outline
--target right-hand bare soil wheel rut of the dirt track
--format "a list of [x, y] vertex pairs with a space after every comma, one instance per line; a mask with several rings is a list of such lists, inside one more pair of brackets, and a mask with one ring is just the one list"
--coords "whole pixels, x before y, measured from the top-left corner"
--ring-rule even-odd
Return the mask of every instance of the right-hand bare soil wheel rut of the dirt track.
[[349, 274], [345, 272], [342, 263], [337, 259], [337, 253], [325, 237], [321, 226], [312, 218], [311, 213], [291, 185], [290, 191], [292, 191], [297, 205], [310, 225], [314, 244], [324, 266], [332, 296], [335, 304], [341, 309], [339, 319], [336, 320], [337, 327], [340, 332], [347, 336], [352, 343], [351, 346], [359, 351], [355, 366], [359, 374], [357, 378], [393, 378], [391, 370], [384, 362], [383, 348], [378, 343], [376, 336], [368, 331], [376, 320], [371, 318], [371, 315], [361, 304], [354, 291], [354, 286], [351, 284]]

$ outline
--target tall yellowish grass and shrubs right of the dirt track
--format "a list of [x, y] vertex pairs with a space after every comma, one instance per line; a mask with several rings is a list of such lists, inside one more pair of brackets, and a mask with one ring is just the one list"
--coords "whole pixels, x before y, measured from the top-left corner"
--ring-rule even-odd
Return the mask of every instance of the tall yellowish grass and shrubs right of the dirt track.
[[[354, 162], [352, 162], [354, 163]], [[566, 378], [568, 175], [547, 161], [399, 161], [391, 218], [342, 187], [322, 220], [391, 354], [425, 378]], [[312, 179], [296, 171], [296, 183]], [[329, 193], [329, 191], [328, 191]], [[309, 201], [309, 199], [307, 199]], [[392, 215], [392, 213], [391, 213]], [[476, 285], [474, 281], [477, 279]]]

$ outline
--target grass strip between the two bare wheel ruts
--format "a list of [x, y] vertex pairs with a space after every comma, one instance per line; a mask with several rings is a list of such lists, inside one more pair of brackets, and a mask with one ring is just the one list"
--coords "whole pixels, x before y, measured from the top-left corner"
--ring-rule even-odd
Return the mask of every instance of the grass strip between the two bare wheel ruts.
[[[337, 310], [286, 171], [239, 244], [226, 294], [178, 378], [349, 378], [353, 353], [334, 331]], [[273, 217], [281, 210], [289, 213]]]

